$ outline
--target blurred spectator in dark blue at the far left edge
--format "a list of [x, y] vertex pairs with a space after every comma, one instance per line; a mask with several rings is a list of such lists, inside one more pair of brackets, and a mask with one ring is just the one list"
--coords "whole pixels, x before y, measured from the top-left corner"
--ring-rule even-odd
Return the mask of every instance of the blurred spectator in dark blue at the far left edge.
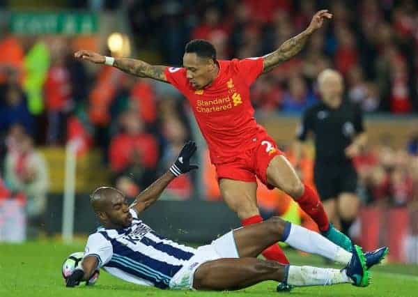
[[24, 126], [26, 132], [35, 130], [33, 116], [29, 113], [26, 96], [20, 86], [6, 84], [0, 93], [0, 131], [7, 131], [13, 124]]

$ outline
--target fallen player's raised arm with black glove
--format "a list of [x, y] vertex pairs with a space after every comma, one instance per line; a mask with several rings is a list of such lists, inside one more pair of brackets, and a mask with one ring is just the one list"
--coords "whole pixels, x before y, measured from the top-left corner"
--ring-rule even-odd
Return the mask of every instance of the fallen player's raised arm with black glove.
[[199, 168], [197, 165], [190, 164], [190, 158], [196, 151], [196, 144], [194, 142], [187, 142], [180, 151], [176, 162], [173, 166], [167, 171], [163, 176], [157, 179], [152, 185], [150, 185], [146, 190], [139, 193], [134, 203], [130, 206], [137, 213], [141, 213], [148, 206], [153, 204], [160, 198], [162, 191], [167, 188], [167, 185], [173, 181], [176, 176], [180, 174], [185, 174], [190, 170]]

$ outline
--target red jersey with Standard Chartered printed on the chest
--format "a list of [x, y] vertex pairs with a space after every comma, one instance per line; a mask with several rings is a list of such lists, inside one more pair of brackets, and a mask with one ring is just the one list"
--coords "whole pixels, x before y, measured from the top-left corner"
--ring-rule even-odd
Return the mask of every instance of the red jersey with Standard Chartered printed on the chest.
[[249, 87], [263, 72], [263, 58], [218, 61], [219, 74], [212, 84], [196, 90], [185, 68], [166, 68], [167, 81], [189, 100], [213, 164], [231, 162], [243, 150], [257, 145], [263, 127], [254, 119]]

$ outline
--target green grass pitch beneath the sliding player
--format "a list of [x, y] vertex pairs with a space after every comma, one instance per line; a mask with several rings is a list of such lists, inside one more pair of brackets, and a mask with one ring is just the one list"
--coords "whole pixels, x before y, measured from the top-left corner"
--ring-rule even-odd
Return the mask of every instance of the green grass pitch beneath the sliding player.
[[[169, 291], [129, 284], [101, 271], [95, 286], [84, 284], [67, 289], [61, 276], [63, 259], [72, 252], [83, 250], [77, 241], [64, 245], [58, 241], [37, 241], [22, 245], [0, 245], [0, 296], [54, 297], [112, 297], [112, 296], [418, 296], [418, 266], [387, 264], [372, 269], [373, 282], [369, 287], [357, 288], [350, 284], [332, 287], [306, 287], [289, 293], [277, 293], [275, 282], [263, 282], [241, 291]], [[325, 266], [323, 259], [301, 256], [286, 250], [294, 264]]]

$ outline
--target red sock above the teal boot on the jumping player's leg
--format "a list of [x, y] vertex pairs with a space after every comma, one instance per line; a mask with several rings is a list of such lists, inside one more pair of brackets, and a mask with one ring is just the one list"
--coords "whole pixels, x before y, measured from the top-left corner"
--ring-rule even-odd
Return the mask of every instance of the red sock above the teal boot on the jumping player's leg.
[[303, 195], [295, 201], [318, 224], [320, 231], [327, 231], [330, 227], [327, 213], [325, 213], [324, 206], [318, 194], [309, 185], [304, 184]]

